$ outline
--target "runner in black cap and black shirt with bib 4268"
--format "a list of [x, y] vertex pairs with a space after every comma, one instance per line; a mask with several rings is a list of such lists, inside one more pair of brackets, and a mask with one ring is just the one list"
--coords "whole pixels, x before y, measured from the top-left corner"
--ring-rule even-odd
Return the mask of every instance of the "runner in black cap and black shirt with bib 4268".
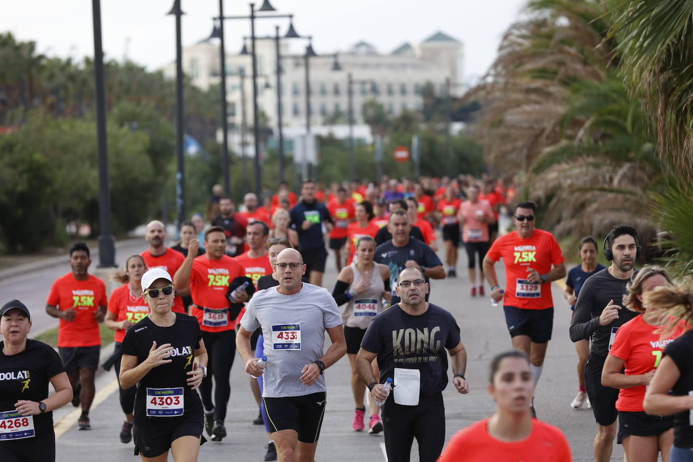
[[[55, 461], [53, 409], [72, 399], [58, 353], [27, 339], [31, 316], [24, 303], [0, 308], [0, 461]], [[55, 394], [49, 398], [49, 382]]]

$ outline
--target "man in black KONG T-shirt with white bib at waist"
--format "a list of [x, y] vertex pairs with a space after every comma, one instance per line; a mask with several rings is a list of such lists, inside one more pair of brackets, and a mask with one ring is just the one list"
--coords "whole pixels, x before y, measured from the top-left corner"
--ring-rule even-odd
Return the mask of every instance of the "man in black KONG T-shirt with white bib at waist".
[[[406, 267], [397, 276], [401, 301], [371, 321], [356, 356], [356, 370], [374, 400], [385, 401], [383, 426], [389, 461], [408, 461], [414, 438], [419, 460], [436, 461], [445, 443], [443, 390], [448, 386], [448, 356], [458, 393], [469, 392], [464, 377], [467, 353], [450, 312], [426, 302], [428, 283], [421, 269]], [[378, 359], [380, 382], [371, 363]], [[389, 395], [383, 383], [391, 378]]]

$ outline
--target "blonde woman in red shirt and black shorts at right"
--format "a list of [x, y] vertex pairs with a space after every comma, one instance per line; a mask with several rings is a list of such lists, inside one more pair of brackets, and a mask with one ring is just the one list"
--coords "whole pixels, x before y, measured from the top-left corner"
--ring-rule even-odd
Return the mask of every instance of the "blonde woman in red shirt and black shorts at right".
[[660, 330], [669, 324], [669, 315], [642, 303], [642, 294], [661, 285], [672, 285], [672, 281], [667, 270], [658, 266], [643, 267], [628, 283], [623, 304], [642, 314], [618, 328], [602, 369], [602, 384], [620, 389], [616, 441], [623, 444], [629, 461], [656, 462], [661, 452], [662, 460], [667, 462], [674, 441], [674, 417], [651, 416], [642, 407], [665, 346], [683, 333], [681, 324], [662, 337]]

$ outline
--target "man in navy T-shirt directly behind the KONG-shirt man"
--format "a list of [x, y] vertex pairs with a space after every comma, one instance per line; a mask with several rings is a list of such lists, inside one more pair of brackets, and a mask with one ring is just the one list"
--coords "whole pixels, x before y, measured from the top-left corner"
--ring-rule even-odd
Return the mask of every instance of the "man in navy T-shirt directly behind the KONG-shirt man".
[[[445, 269], [443, 262], [436, 253], [424, 242], [412, 239], [409, 233], [412, 231], [412, 224], [409, 215], [403, 210], [396, 210], [390, 213], [387, 229], [392, 233], [392, 240], [388, 240], [376, 248], [376, 263], [383, 263], [390, 270], [390, 287], [392, 287], [392, 301], [394, 304], [399, 301], [396, 294], [397, 276], [405, 268], [417, 268], [422, 273], [428, 283], [428, 279], [444, 279]], [[428, 290], [426, 290], [426, 301], [428, 301]]]

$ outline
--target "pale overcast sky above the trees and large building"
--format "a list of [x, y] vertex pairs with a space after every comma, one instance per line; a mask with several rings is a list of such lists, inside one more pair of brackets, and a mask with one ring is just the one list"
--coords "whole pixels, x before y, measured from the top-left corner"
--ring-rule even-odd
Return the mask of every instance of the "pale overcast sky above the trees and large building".
[[[486, 73], [500, 39], [519, 17], [527, 0], [270, 0], [275, 14], [294, 15], [300, 35], [313, 36], [317, 53], [346, 51], [364, 40], [382, 53], [404, 42], [419, 43], [441, 31], [464, 44], [465, 81]], [[94, 55], [92, 9], [89, 0], [4, 1], [0, 33], [11, 32], [22, 41], [33, 40], [38, 53], [49, 56]], [[256, 8], [262, 0], [256, 1]], [[147, 69], [159, 69], [175, 60], [175, 18], [166, 13], [173, 0], [103, 0], [101, 21], [106, 59], [124, 57]], [[249, 14], [245, 1], [224, 2], [225, 16]], [[182, 0], [183, 45], [209, 37], [218, 0]], [[288, 19], [256, 21], [256, 35], [274, 35], [288, 28]], [[248, 20], [225, 22], [227, 51], [240, 51], [249, 35]], [[305, 42], [290, 40], [298, 51]]]

